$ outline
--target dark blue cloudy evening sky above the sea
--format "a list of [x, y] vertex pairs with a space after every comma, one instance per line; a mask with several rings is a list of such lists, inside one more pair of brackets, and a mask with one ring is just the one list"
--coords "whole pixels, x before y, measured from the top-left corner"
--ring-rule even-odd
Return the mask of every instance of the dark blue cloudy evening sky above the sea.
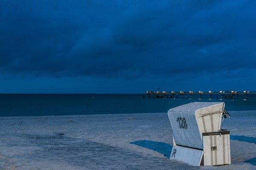
[[1, 93], [256, 91], [256, 3], [0, 1]]

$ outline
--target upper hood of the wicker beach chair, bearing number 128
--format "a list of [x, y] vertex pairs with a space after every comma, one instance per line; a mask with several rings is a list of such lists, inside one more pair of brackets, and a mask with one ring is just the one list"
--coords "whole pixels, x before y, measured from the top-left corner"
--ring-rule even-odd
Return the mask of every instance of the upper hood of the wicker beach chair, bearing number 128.
[[193, 102], [168, 111], [176, 144], [203, 149], [202, 133], [221, 130], [224, 102]]

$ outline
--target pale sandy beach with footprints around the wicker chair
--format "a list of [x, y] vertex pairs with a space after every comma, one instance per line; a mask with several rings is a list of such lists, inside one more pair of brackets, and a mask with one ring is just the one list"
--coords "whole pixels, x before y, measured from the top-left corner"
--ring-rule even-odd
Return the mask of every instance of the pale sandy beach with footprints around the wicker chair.
[[0, 117], [2, 170], [256, 169], [256, 111], [230, 111], [231, 165], [169, 160], [167, 113]]

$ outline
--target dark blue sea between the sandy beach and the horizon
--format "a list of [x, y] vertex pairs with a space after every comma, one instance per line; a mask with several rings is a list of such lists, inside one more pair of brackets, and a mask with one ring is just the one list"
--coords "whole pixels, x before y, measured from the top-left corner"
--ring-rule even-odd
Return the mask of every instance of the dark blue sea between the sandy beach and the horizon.
[[[256, 110], [256, 95], [239, 99], [183, 95], [178, 98], [143, 98], [143, 94], [0, 94], [0, 116], [61, 116], [90, 114], [167, 113], [190, 102], [225, 102], [227, 111]], [[232, 116], [232, 115], [231, 115]]]

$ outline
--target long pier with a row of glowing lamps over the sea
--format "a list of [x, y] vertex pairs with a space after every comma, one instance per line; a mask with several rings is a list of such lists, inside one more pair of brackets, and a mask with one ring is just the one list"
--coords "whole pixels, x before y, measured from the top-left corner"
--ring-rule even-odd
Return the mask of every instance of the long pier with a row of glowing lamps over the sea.
[[[166, 91], [147, 91], [146, 96], [148, 98], [183, 98], [183, 95], [188, 95], [190, 99], [192, 99], [192, 95], [197, 94], [200, 95], [200, 99], [202, 99], [202, 95], [209, 95], [209, 98], [212, 99], [212, 95], [216, 96], [216, 98], [220, 99], [239, 99], [239, 95], [244, 96], [245, 99], [247, 99], [249, 94], [256, 94], [256, 91], [208, 91], [208, 92], [203, 92], [203, 91], [198, 91], [198, 92], [193, 92], [193, 91], [171, 91], [171, 92], [166, 92]], [[143, 94], [143, 98], [145, 98]]]

